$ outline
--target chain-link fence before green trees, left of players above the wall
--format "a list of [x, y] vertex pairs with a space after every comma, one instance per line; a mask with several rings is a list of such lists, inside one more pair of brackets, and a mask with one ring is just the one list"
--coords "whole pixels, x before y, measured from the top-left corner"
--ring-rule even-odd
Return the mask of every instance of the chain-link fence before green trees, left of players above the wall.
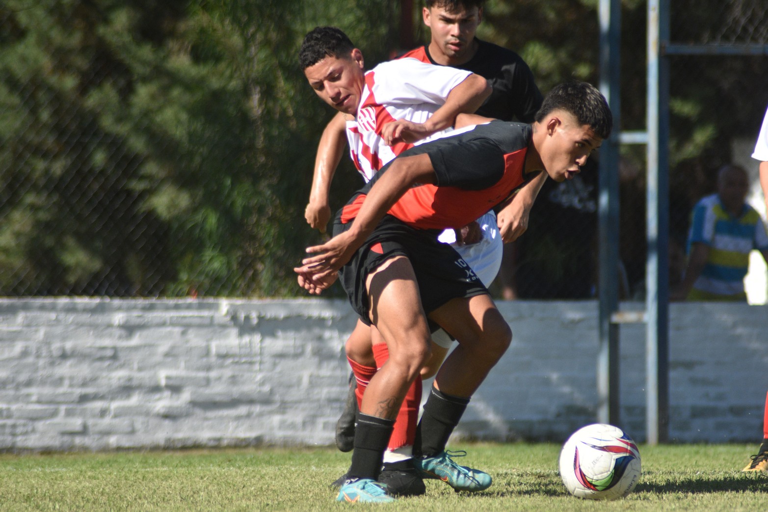
[[285, 294], [296, 36], [236, 7], [0, 4], [0, 295]]

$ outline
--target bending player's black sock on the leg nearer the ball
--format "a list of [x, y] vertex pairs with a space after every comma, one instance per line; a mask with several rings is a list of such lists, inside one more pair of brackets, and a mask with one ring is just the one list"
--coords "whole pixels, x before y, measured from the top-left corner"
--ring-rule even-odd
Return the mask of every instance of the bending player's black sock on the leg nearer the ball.
[[469, 398], [455, 397], [432, 387], [427, 403], [424, 404], [422, 421], [416, 428], [413, 454], [417, 457], [432, 457], [445, 450], [453, 429], [462, 419]]

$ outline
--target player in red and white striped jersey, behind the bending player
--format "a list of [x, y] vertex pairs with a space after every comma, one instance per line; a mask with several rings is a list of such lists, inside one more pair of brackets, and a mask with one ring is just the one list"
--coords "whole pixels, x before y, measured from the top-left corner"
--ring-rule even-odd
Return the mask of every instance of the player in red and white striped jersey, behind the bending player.
[[[341, 38], [342, 35], [336, 34], [335, 31], [337, 29], [316, 28], [307, 35], [307, 45], [311, 48], [313, 38]], [[351, 42], [347, 45], [351, 45]], [[363, 73], [362, 53], [355, 48], [349, 52], [351, 58], [323, 58], [307, 66], [305, 74], [318, 95], [339, 110], [339, 115], [326, 129], [323, 138], [331, 129], [337, 133], [343, 126], [349, 141], [350, 156], [365, 181], [369, 181], [383, 165], [413, 145], [434, 140], [448, 133], [455, 115], [474, 111], [489, 92], [487, 88], [480, 87], [485, 85], [485, 79], [469, 71], [435, 66], [411, 58], [385, 62]], [[317, 55], [314, 58], [316, 59]], [[358, 105], [356, 109], [355, 102]], [[321, 148], [327, 146], [327, 141], [321, 141]], [[332, 147], [338, 149], [338, 141]], [[318, 158], [318, 162], [322, 164], [323, 159]], [[338, 158], [332, 158], [329, 162], [329, 166], [332, 166], [329, 169], [331, 173], [337, 163]], [[325, 171], [326, 167], [317, 165], [316, 169]], [[327, 187], [316, 194], [316, 185], [323, 179], [318, 179], [318, 172], [315, 178], [313, 196], [322, 196], [323, 201], [327, 202]], [[491, 215], [490, 219], [485, 220], [485, 226], [492, 228], [496, 233], [495, 217]], [[502, 242], [498, 236], [487, 236], [481, 241], [482, 244], [475, 244], [472, 249], [477, 254], [485, 255], [485, 259], [490, 261], [490, 265], [482, 265], [485, 268], [484, 282], [490, 284], [498, 271]], [[494, 252], [495, 254], [488, 255]], [[483, 277], [483, 274], [481, 275]], [[442, 332], [441, 336], [442, 351], [435, 351], [436, 365], [442, 361], [450, 346], [450, 337], [445, 332]], [[372, 358], [369, 327], [359, 323], [347, 345], [363, 347], [362, 350], [366, 352], [365, 357], [355, 357], [353, 354], [349, 356], [358, 384], [356, 394], [358, 399], [362, 399], [367, 381], [376, 372], [377, 367]], [[383, 364], [387, 357], [386, 344], [380, 344], [377, 351], [379, 361]], [[419, 389], [414, 388], [409, 394], [408, 403], [411, 407], [409, 411], [404, 411], [402, 421], [399, 421], [401, 430], [395, 436], [396, 440], [400, 440], [395, 441], [397, 447], [408, 445], [405, 459], [410, 458], [410, 445], [415, 436], [420, 384], [419, 381]], [[351, 446], [348, 449], [351, 449]], [[387, 473], [384, 474], [384, 480], [386, 477]], [[416, 484], [419, 488], [415, 494], [423, 492], [420, 479]], [[398, 490], [398, 487], [393, 484], [392, 489]], [[413, 490], [409, 490], [408, 494], [414, 494]]]

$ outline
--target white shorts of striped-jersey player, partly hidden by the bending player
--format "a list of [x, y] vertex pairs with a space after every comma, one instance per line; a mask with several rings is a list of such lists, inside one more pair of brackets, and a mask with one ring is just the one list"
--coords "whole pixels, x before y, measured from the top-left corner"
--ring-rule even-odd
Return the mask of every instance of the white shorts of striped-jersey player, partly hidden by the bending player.
[[[482, 229], [482, 240], [477, 244], [456, 244], [456, 234], [452, 229], [443, 231], [438, 240], [451, 244], [452, 248], [461, 254], [464, 261], [475, 271], [482, 284], [485, 284], [485, 288], [488, 288], [496, 278], [498, 269], [502, 267], [504, 243], [502, 235], [498, 232], [496, 214], [493, 211], [488, 211], [487, 214], [478, 218], [477, 222]], [[432, 341], [443, 348], [449, 348], [453, 342], [449, 334], [442, 329], [432, 333]]]

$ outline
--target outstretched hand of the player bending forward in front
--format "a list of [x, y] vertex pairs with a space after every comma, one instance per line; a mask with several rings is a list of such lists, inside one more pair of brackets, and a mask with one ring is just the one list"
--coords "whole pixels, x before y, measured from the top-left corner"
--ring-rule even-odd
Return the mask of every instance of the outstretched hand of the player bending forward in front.
[[302, 266], [293, 268], [299, 274], [299, 286], [310, 294], [319, 294], [329, 288], [338, 278], [339, 268], [352, 258], [358, 249], [348, 232], [331, 238], [325, 244], [306, 248], [307, 254], [313, 254], [301, 261]]

